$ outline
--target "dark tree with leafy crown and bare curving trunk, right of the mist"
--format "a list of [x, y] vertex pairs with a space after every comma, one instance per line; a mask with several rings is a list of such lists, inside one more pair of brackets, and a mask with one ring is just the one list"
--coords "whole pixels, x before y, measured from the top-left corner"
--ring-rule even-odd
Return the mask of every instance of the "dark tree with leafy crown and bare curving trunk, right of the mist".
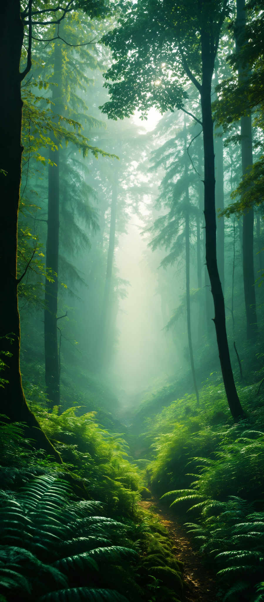
[[[129, 3], [130, 5], [130, 3]], [[180, 4], [141, 0], [130, 5], [120, 27], [103, 36], [111, 46], [115, 63], [106, 72], [111, 100], [103, 105], [109, 118], [117, 119], [140, 108], [143, 117], [150, 107], [162, 112], [184, 108], [186, 76], [200, 93], [204, 146], [204, 219], [206, 265], [215, 307], [219, 359], [230, 411], [242, 416], [230, 362], [224, 296], [216, 260], [215, 161], [211, 90], [219, 37], [228, 0], [185, 0]], [[191, 19], [190, 19], [191, 15]], [[182, 78], [183, 76], [183, 78]], [[185, 111], [187, 109], [185, 108]]]

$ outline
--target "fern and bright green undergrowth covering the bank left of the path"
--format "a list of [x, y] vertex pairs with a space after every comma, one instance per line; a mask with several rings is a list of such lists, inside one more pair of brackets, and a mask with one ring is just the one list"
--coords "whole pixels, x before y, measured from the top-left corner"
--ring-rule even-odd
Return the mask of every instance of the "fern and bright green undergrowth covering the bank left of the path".
[[0, 424], [1, 602], [180, 602], [182, 566], [137, 506], [143, 481], [123, 439], [94, 414], [36, 413], [68, 464], [36, 452], [23, 425]]

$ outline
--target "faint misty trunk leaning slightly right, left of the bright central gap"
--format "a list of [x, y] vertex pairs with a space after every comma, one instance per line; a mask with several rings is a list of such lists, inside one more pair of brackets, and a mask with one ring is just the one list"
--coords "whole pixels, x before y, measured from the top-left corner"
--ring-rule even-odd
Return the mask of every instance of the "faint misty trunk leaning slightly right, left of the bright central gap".
[[111, 218], [109, 230], [109, 244], [107, 254], [107, 265], [105, 275], [105, 290], [103, 293], [103, 307], [101, 318], [101, 337], [100, 337], [100, 356], [106, 358], [108, 356], [109, 347], [109, 326], [111, 321], [111, 290], [112, 290], [112, 265], [114, 261], [115, 250], [115, 224], [117, 215], [117, 196], [118, 196], [118, 173], [115, 173], [115, 179], [112, 183], [112, 200], [111, 200]]

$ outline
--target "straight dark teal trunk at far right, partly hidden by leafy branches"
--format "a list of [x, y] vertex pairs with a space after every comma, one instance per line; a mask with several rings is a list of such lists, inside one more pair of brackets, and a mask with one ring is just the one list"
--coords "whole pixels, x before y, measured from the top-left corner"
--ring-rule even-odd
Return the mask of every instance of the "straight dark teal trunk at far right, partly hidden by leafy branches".
[[[245, 43], [243, 35], [246, 24], [245, 0], [236, 0], [236, 51], [239, 52], [241, 45]], [[241, 39], [242, 36], [242, 39]], [[247, 69], [242, 66], [238, 68], [238, 78], [243, 82]], [[253, 164], [252, 154], [252, 128], [251, 114], [242, 116], [240, 120], [241, 128], [241, 155], [242, 155], [242, 175], [244, 176], [248, 168]], [[247, 338], [252, 339], [257, 335], [257, 314], [256, 314], [256, 294], [254, 286], [254, 209], [251, 208], [243, 216], [242, 231], [243, 246], [243, 276], [244, 276], [244, 295], [245, 309], [247, 316]]]

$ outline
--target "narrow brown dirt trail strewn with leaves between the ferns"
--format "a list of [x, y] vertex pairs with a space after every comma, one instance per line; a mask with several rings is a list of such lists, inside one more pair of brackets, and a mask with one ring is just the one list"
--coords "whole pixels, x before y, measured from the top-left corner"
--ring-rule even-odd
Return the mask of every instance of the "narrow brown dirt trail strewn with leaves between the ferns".
[[216, 587], [213, 576], [203, 566], [200, 554], [192, 549], [191, 539], [174, 512], [163, 506], [158, 498], [141, 500], [140, 506], [157, 515], [176, 547], [176, 558], [184, 563], [185, 602], [215, 602]]

